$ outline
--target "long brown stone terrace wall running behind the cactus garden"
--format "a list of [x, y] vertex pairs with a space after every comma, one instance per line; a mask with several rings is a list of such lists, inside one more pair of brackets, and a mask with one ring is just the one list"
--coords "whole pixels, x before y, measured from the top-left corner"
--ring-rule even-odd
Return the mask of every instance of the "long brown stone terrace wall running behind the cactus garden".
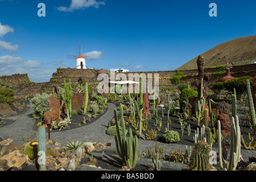
[[[191, 86], [195, 86], [194, 82], [197, 78], [198, 70], [181, 70], [183, 72], [183, 76], [180, 84], [190, 82]], [[27, 74], [14, 74], [9, 76], [0, 76], [1, 81], [6, 83], [11, 83], [16, 86], [13, 88], [15, 90], [15, 97], [26, 97], [29, 95], [34, 96], [35, 94], [42, 92], [53, 91], [54, 86], [62, 86], [63, 87], [63, 78], [66, 78], [66, 81], [71, 79], [73, 84], [78, 82], [79, 78], [82, 80], [89, 82], [90, 84], [94, 84], [93, 87], [96, 88], [97, 85], [95, 83], [100, 82], [97, 81], [97, 72], [98, 70], [93, 69], [58, 69], [57, 72], [53, 73], [53, 77], [50, 78], [49, 82], [42, 82], [37, 84], [31, 84], [29, 77]], [[205, 68], [205, 73], [207, 73], [210, 77], [209, 85], [217, 82], [219, 78], [225, 76], [216, 76], [213, 75], [215, 72], [215, 68]], [[161, 85], [172, 85], [171, 77], [175, 76], [177, 71], [156, 71], [156, 72], [127, 72], [125, 75], [129, 78], [129, 73], [152, 73], [154, 76], [155, 73], [159, 74], [159, 86]], [[239, 65], [233, 66], [230, 68], [231, 76], [233, 77], [242, 77], [242, 76], [256, 76], [256, 64], [249, 65]], [[107, 71], [107, 74], [110, 77], [110, 71]], [[117, 73], [115, 73], [117, 74]], [[178, 86], [178, 85], [175, 85]]]

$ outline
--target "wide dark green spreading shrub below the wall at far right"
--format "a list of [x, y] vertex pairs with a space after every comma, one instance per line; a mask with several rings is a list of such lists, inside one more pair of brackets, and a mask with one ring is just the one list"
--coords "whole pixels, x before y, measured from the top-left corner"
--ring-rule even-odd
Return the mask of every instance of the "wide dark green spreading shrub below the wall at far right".
[[230, 90], [231, 92], [233, 92], [235, 88], [235, 92], [237, 93], [239, 98], [242, 93], [246, 92], [246, 80], [249, 80], [250, 85], [253, 85], [253, 77], [242, 76], [225, 81], [224, 86], [227, 90]]

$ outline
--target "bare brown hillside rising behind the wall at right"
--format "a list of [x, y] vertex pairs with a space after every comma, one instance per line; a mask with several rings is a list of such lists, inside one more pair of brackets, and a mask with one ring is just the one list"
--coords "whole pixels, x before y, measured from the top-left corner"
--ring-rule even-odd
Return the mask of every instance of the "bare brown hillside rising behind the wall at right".
[[[218, 65], [243, 65], [256, 61], [256, 35], [230, 40], [201, 54], [205, 68]], [[199, 55], [198, 55], [199, 56]], [[176, 70], [197, 69], [197, 57]]]

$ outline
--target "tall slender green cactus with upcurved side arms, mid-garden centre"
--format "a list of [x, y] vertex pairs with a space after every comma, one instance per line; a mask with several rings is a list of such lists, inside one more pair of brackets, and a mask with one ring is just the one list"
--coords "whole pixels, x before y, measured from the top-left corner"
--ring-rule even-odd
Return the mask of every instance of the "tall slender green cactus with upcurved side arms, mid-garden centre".
[[[141, 75], [139, 76], [139, 105], [138, 105], [137, 101], [134, 101], [134, 103], [135, 103], [135, 107], [136, 107], [138, 117], [139, 117], [139, 137], [141, 137], [141, 135], [142, 135], [142, 123], [145, 124], [155, 114], [155, 109], [154, 109], [149, 117], [143, 118], [142, 111], [144, 109], [145, 102], [143, 102], [142, 76]], [[145, 116], [146, 116], [146, 114], [145, 114]]]

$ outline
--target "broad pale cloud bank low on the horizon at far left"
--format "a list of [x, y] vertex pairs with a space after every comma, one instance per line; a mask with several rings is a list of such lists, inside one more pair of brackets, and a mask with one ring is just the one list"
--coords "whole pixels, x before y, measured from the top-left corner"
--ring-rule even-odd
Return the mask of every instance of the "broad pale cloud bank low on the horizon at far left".
[[39, 60], [25, 61], [21, 57], [9, 55], [0, 57], [0, 76], [27, 73], [30, 81], [47, 82], [53, 72], [55, 72], [54, 68], [43, 67]]

